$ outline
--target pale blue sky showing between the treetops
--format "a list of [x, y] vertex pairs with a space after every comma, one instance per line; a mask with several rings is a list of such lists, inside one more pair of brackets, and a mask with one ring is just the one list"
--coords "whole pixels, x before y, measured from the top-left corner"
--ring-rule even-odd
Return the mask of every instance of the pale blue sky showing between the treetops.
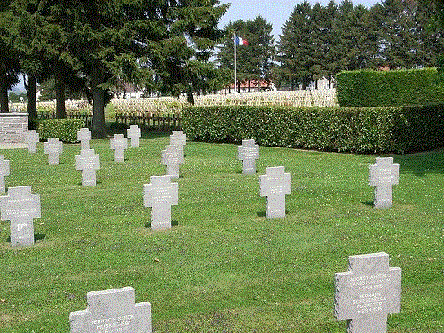
[[[289, 16], [297, 4], [304, 0], [220, 0], [220, 4], [231, 4], [228, 11], [219, 21], [219, 28], [224, 28], [229, 22], [236, 20], [254, 20], [259, 15], [273, 26], [274, 40], [279, 39], [282, 26], [289, 20]], [[320, 3], [322, 6], [329, 4], [330, 0], [309, 0], [314, 5]], [[335, 0], [340, 4], [342, 0]], [[363, 4], [370, 8], [374, 4], [381, 3], [379, 0], [352, 0], [352, 3]], [[241, 36], [242, 37], [242, 36]]]

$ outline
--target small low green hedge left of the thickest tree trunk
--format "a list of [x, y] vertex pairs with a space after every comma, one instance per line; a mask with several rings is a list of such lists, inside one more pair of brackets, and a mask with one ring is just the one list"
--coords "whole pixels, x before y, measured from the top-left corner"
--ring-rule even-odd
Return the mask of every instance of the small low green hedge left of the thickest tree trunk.
[[83, 119], [47, 119], [38, 122], [40, 139], [59, 138], [63, 142], [78, 142], [77, 131], [84, 127]]

